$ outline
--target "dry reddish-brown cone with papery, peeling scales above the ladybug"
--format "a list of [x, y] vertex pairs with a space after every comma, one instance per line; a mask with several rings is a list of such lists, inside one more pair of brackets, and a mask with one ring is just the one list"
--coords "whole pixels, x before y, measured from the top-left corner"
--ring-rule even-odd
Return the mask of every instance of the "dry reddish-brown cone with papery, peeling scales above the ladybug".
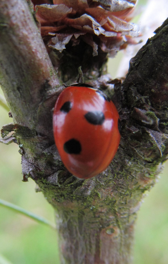
[[136, 0], [32, 0], [41, 36], [49, 48], [59, 50], [83, 40], [97, 55], [98, 47], [114, 56], [135, 44], [139, 28], [130, 23]]

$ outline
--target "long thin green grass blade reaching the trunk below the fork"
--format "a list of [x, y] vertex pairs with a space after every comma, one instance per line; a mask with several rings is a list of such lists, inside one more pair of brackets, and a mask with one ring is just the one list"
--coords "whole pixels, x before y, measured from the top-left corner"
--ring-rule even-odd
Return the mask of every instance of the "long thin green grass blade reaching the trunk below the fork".
[[[55, 229], [55, 225], [52, 222], [50, 222], [49, 220], [43, 218], [42, 216], [31, 213], [30, 211], [27, 211], [27, 210], [21, 208], [20, 206], [17, 206], [15, 204], [10, 203], [10, 202], [4, 201], [2, 199], [0, 199], [0, 205], [6, 207], [8, 209], [11, 209], [11, 210], [15, 211], [16, 213], [20, 213], [22, 215], [25, 215], [25, 216], [35, 220], [36, 222], [48, 225], [49, 227]], [[1, 262], [0, 262], [0, 264], [1, 264]]]

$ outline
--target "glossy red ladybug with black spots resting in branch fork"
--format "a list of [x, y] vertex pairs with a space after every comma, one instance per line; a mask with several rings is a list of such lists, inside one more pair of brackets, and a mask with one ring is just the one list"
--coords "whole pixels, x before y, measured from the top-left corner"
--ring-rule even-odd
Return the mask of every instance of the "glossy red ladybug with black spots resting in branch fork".
[[119, 114], [108, 96], [87, 84], [59, 95], [53, 112], [55, 144], [73, 175], [92, 178], [104, 171], [118, 149]]

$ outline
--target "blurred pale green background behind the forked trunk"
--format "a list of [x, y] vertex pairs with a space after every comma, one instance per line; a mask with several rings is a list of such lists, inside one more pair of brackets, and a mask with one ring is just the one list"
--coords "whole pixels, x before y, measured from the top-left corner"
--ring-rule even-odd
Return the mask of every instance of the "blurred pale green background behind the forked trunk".
[[[121, 58], [122, 53], [118, 53], [116, 58], [109, 60], [113, 78]], [[0, 106], [0, 128], [11, 122], [8, 112]], [[18, 150], [14, 143], [0, 143], [0, 199], [54, 222], [54, 211], [43, 194], [35, 192], [35, 183], [31, 179], [21, 181]], [[134, 264], [168, 263], [167, 176], [168, 162], [164, 164], [164, 171], [155, 187], [144, 197], [136, 223]], [[2, 262], [1, 254], [13, 264], [59, 264], [57, 234], [47, 226], [0, 206], [0, 264], [8, 264]]]

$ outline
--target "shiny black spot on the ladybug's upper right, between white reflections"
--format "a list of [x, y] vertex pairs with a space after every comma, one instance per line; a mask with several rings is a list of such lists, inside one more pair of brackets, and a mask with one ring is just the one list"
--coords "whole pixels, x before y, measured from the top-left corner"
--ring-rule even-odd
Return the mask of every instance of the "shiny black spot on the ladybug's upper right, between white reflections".
[[105, 120], [105, 116], [101, 111], [87, 112], [85, 118], [92, 125], [102, 125]]

